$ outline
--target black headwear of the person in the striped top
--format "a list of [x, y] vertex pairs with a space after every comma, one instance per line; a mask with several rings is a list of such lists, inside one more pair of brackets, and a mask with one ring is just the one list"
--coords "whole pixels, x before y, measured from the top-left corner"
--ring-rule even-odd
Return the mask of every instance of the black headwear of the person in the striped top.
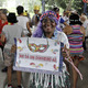
[[69, 23], [70, 24], [82, 24], [80, 21], [79, 21], [79, 15], [76, 14], [76, 13], [72, 13], [70, 16], [69, 16]]

